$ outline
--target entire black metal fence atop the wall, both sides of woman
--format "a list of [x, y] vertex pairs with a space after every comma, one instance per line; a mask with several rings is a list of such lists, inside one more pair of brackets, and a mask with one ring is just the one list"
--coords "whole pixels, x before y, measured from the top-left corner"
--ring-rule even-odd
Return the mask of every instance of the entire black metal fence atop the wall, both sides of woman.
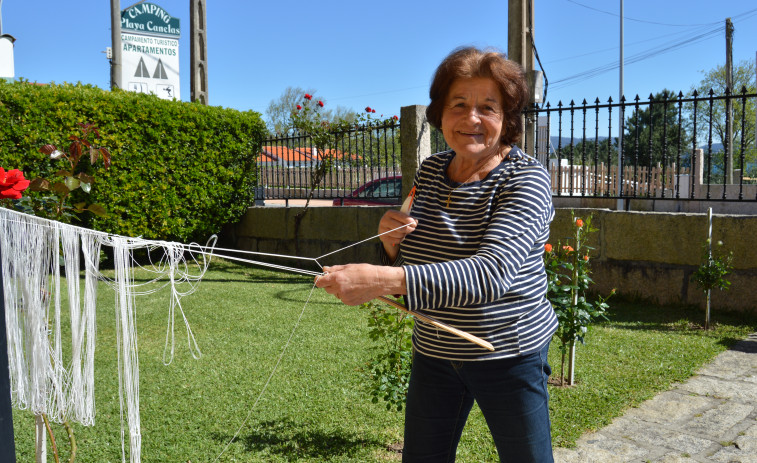
[[[547, 104], [524, 112], [522, 147], [547, 167], [555, 196], [757, 201], [756, 106], [757, 93], [746, 89]], [[368, 182], [402, 175], [399, 127], [357, 127], [323, 153], [307, 134], [266, 139], [258, 158], [261, 194], [307, 198], [323, 162], [330, 167], [316, 199], [341, 200]], [[435, 129], [431, 149], [448, 149]]]

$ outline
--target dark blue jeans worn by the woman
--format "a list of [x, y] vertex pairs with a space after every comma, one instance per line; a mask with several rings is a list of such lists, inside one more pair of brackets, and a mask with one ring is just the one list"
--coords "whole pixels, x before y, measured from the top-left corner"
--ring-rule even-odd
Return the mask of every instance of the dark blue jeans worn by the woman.
[[415, 353], [402, 461], [454, 462], [475, 400], [501, 462], [553, 462], [548, 350], [549, 344], [522, 357], [479, 362], [453, 362]]

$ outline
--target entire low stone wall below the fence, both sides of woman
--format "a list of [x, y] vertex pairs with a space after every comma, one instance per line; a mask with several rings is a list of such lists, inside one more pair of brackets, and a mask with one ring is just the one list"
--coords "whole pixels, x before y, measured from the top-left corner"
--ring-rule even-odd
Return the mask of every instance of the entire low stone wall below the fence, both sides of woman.
[[[311, 207], [295, 232], [298, 207], [252, 207], [240, 223], [223, 233], [226, 245], [239, 249], [318, 257], [376, 234], [383, 207]], [[550, 242], [565, 241], [572, 224], [569, 208], [557, 208]], [[707, 214], [573, 209], [577, 216], [593, 214], [599, 231], [592, 235], [593, 275], [603, 294], [620, 294], [666, 303], [704, 307], [704, 296], [691, 274], [702, 258], [707, 237]], [[713, 240], [734, 253], [729, 291], [714, 291], [713, 311], [757, 312], [757, 216], [713, 216]], [[319, 259], [322, 265], [350, 262], [378, 263], [378, 239]], [[258, 259], [262, 260], [262, 259]], [[317, 268], [312, 262], [277, 260], [282, 265]]]

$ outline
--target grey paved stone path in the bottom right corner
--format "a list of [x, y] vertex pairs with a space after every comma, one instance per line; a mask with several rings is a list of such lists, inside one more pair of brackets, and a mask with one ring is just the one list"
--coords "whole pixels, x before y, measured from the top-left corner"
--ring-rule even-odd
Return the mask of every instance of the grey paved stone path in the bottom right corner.
[[757, 463], [757, 333], [555, 462]]

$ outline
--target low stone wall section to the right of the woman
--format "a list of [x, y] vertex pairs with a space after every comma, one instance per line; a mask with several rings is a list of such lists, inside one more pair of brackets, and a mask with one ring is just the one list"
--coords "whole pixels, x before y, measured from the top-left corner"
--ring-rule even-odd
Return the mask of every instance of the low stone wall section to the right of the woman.
[[[571, 233], [570, 209], [558, 209], [551, 242]], [[627, 296], [662, 304], [704, 307], [704, 293], [691, 275], [702, 260], [707, 238], [707, 214], [575, 209], [593, 214], [599, 231], [592, 236], [593, 274], [599, 292], [613, 288]], [[713, 215], [712, 238], [733, 251], [728, 291], [713, 291], [712, 308], [757, 312], [757, 216]]]

